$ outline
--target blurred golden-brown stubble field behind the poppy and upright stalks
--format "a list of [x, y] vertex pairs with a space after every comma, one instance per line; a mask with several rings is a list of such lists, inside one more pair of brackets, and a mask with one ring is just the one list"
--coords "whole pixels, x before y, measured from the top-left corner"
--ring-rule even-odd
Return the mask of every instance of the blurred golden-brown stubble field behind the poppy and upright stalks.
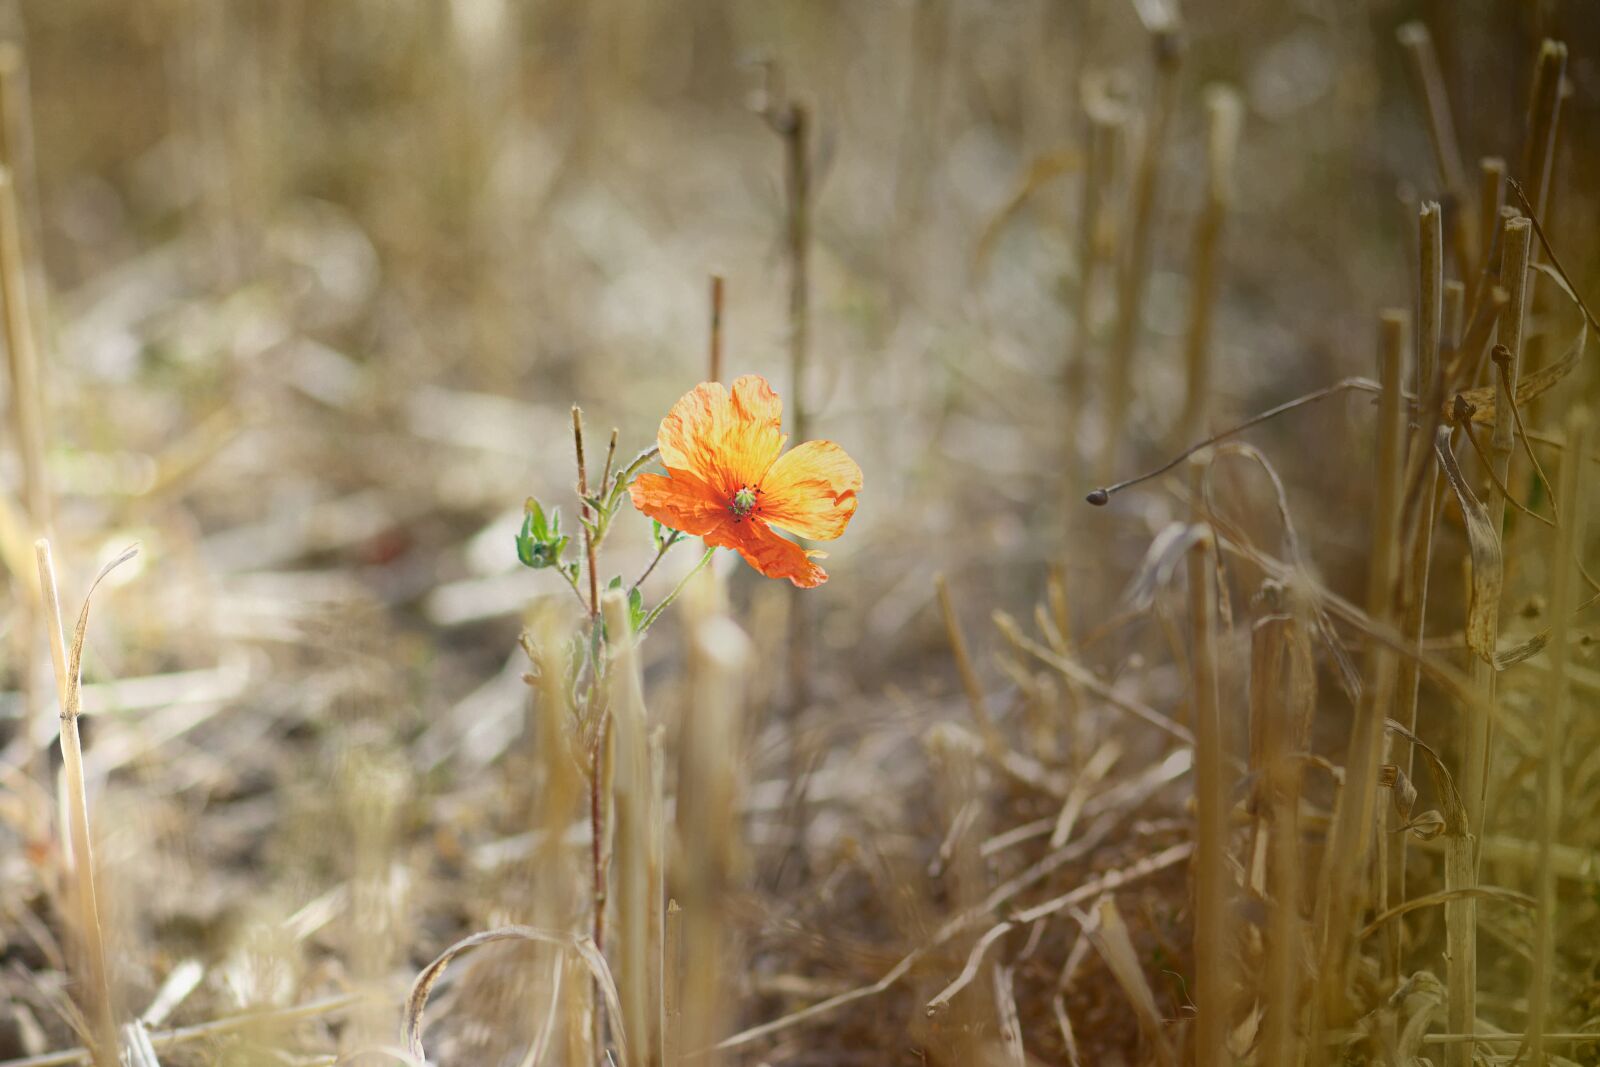
[[[1459, 147], [1443, 155], [1467, 178], [1456, 189], [1397, 35], [1413, 22], [1430, 32], [1448, 94]], [[558, 896], [536, 862], [539, 701], [518, 633], [530, 605], [571, 605], [550, 574], [517, 563], [522, 501], [574, 514], [573, 403], [592, 456], [613, 426], [621, 456], [653, 443], [706, 376], [715, 274], [725, 379], [770, 378], [787, 411], [808, 411], [806, 437], [840, 442], [866, 474], [856, 520], [827, 545], [830, 581], [802, 593], [800, 614], [787, 585], [717, 560], [752, 649], [744, 800], [726, 814], [738, 877], [717, 901], [730, 969], [718, 1022], [744, 1037], [723, 1062], [1275, 1064], [1290, 1046], [1307, 1062], [1467, 1062], [1454, 1057], [1469, 1041], [1424, 1043], [1461, 1032], [1458, 1016], [1446, 1024], [1459, 976], [1446, 977], [1442, 901], [1394, 921], [1390, 955], [1387, 933], [1350, 950], [1349, 998], [1317, 987], [1325, 969], [1312, 977], [1333, 782], [1350, 774], [1334, 771], [1363, 699], [1349, 675], [1366, 672], [1368, 694], [1395, 686], [1403, 704], [1403, 685], [1363, 664], [1381, 645], [1370, 635], [1400, 616], [1357, 611], [1318, 629], [1296, 614], [1301, 571], [1221, 552], [1221, 605], [1195, 624], [1184, 577], [1195, 549], [1174, 550], [1171, 528], [1192, 517], [1186, 469], [1104, 509], [1083, 496], [1206, 430], [1376, 379], [1379, 310], [1418, 314], [1424, 202], [1443, 202], [1443, 277], [1472, 301], [1509, 286], [1474, 288], [1478, 266], [1499, 264], [1498, 214], [1480, 229], [1478, 158], [1504, 157], [1528, 186], [1546, 38], [1566, 51], [1539, 221], [1576, 294], [1600, 294], [1600, 11], [1586, 0], [1181, 11], [1157, 0], [59, 0], [5, 5], [0, 38], [21, 58], [5, 155], [51, 498], [48, 517], [29, 515], [13, 414], [0, 453], [0, 1061], [78, 1062], [51, 1054], [85, 1043], [61, 907], [67, 857], [50, 829], [59, 757], [29, 606], [32, 537], [51, 536], [69, 621], [99, 563], [142, 545], [98, 593], [85, 649], [117, 1021], [146, 1014], [166, 1064], [398, 1062], [373, 1049], [398, 1043], [416, 973], [475, 931], [546, 921]], [[1197, 410], [1187, 360], [1203, 219], [1219, 195], [1216, 86], [1235, 93], [1240, 126], [1202, 301], [1211, 370]], [[763, 94], [810, 115], [798, 398], [792, 190]], [[1096, 142], [1094, 130], [1115, 133]], [[1085, 213], [1091, 184], [1098, 219]], [[1525, 373], [1587, 333], [1552, 272], [1530, 277]], [[1443, 347], [1459, 346], [1445, 336]], [[1522, 411], [1530, 429], [1558, 438], [1568, 411], [1594, 403], [1592, 355], [1576, 368]], [[1480, 373], [1462, 387], [1493, 395], [1493, 368]], [[1414, 402], [1410, 378], [1406, 389]], [[1424, 410], [1408, 408], [1427, 429]], [[1384, 522], [1378, 418], [1357, 390], [1243, 438], [1282, 478], [1304, 576], [1363, 606]], [[1486, 427], [1478, 440], [1488, 446]], [[1453, 448], [1493, 499], [1459, 434]], [[1547, 514], [1562, 453], [1541, 453], [1546, 483], [1517, 448], [1512, 496]], [[1411, 456], [1427, 453], [1413, 443]], [[1594, 472], [1576, 475], [1579, 502]], [[1286, 557], [1261, 470], [1229, 459], [1213, 480], [1211, 522]], [[1437, 485], [1424, 646], [1464, 678], [1470, 545]], [[619, 522], [608, 566], [632, 576], [650, 560], [648, 528]], [[1574, 681], [1570, 744], [1550, 765], [1550, 651], [1499, 672], [1504, 755], [1472, 835], [1485, 849], [1499, 841], [1483, 886], [1517, 899], [1477, 902], [1480, 992], [1466, 1022], [1523, 1035], [1539, 1016], [1547, 1032], [1589, 1032], [1600, 664], [1594, 611], [1579, 608], [1592, 590], [1573, 579], [1571, 621], [1552, 621], [1566, 581], [1552, 531], [1520, 512], [1502, 528], [1501, 637], [1515, 646], [1554, 627]], [[646, 597], [693, 558], [667, 557]], [[1397, 589], [1413, 589], [1408, 573], [1400, 565]], [[1019, 622], [997, 625], [995, 611]], [[1294, 752], [1310, 768], [1304, 797], [1294, 790], [1304, 896], [1290, 904], [1269, 889], [1262, 829], [1277, 801], [1261, 782], [1277, 765], [1259, 745], [1277, 701], [1262, 702], [1258, 685], [1274, 681], [1253, 675], [1253, 625], [1275, 613], [1307, 627], [1283, 654], [1306, 649], [1301, 681], [1315, 689], [1314, 757]], [[803, 685], [795, 627], [810, 635]], [[1190, 851], [1206, 849], [1206, 803], [1218, 809], [1195, 800], [1189, 744], [1205, 713], [1194, 672], [1206, 627], [1227, 723], [1218, 766], [1234, 768], [1213, 853], [1232, 886], [1214, 912], [1227, 944], [1208, 950], [1226, 977], [1210, 979], [1195, 957], [1210, 861]], [[691, 630], [688, 614], [667, 617], [640, 649], [669, 768], [693, 702]], [[952, 656], [955, 630], [978, 699]], [[1467, 713], [1450, 685], [1424, 685], [1416, 733], [1459, 768]], [[1411, 773], [1402, 749], [1382, 763], [1416, 781], [1416, 814], [1448, 822], [1438, 781]], [[1541, 760], [1554, 779], [1538, 777]], [[666, 781], [670, 798], [675, 771]], [[1565, 800], [1554, 816], [1550, 781]], [[1454, 832], [1406, 830], [1384, 814], [1395, 792], [1381, 790], [1374, 841], [1389, 845], [1374, 848], [1403, 854], [1394, 841], [1414, 838], [1411, 896], [1442, 891], [1440, 843]], [[576, 819], [574, 849], [584, 833]], [[1357, 902], [1352, 929], [1382, 910], [1360, 904], [1371, 901]], [[1293, 921], [1274, 926], [1280, 913]], [[581, 910], [563, 918], [586, 929]], [[1546, 923], [1557, 936], [1541, 950]], [[1283, 931], [1294, 949], [1278, 957]], [[429, 1016], [430, 1062], [531, 1062], [560, 1001], [554, 955], [496, 947], [458, 963]], [[1269, 957], [1294, 976], [1277, 1001], [1294, 1006], [1286, 1043], [1269, 1022]], [[675, 1017], [670, 957], [667, 969]], [[1538, 1000], [1544, 985], [1554, 992]], [[794, 1017], [851, 990], [864, 992]], [[1334, 1006], [1315, 1008], [1325, 1000]], [[1197, 1024], [1218, 1013], [1226, 1051]], [[574, 1017], [562, 1033], [584, 1029]], [[578, 1038], [566, 1040], [544, 1062], [573, 1062]], [[1510, 1062], [1518, 1041], [1477, 1054]], [[1597, 1048], [1568, 1038], [1549, 1056], [1595, 1062]], [[699, 1049], [677, 1051], [694, 1062]]]

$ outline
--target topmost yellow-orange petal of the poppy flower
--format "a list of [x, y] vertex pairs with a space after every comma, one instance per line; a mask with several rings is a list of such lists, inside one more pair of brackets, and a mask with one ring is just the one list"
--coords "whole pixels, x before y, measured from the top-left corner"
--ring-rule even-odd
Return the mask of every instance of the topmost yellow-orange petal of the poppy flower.
[[762, 475], [782, 451], [782, 402], [757, 374], [733, 384], [701, 382], [661, 421], [656, 445], [669, 469], [688, 470], [723, 496]]

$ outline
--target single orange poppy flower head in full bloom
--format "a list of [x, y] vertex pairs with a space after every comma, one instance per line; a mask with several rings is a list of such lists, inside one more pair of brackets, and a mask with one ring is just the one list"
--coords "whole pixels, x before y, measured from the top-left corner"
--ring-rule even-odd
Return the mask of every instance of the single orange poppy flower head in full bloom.
[[806, 552], [773, 526], [813, 541], [845, 533], [856, 514], [861, 467], [834, 442], [782, 453], [784, 405], [760, 374], [701, 382], [661, 421], [656, 445], [667, 474], [642, 474], [634, 507], [662, 526], [733, 549], [768, 577], [802, 589], [827, 581]]

